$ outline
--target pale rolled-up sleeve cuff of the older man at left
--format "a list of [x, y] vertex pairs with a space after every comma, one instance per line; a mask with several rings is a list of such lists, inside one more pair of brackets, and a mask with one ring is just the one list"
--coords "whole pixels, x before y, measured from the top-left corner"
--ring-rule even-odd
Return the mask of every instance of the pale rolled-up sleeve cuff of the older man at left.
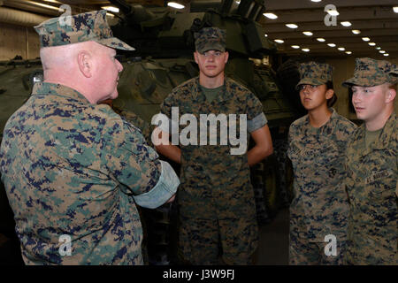
[[157, 185], [148, 193], [133, 196], [135, 203], [142, 207], [156, 209], [167, 202], [177, 192], [177, 187], [180, 185], [180, 179], [172, 166], [163, 160], [159, 161], [162, 164], [162, 172]]

